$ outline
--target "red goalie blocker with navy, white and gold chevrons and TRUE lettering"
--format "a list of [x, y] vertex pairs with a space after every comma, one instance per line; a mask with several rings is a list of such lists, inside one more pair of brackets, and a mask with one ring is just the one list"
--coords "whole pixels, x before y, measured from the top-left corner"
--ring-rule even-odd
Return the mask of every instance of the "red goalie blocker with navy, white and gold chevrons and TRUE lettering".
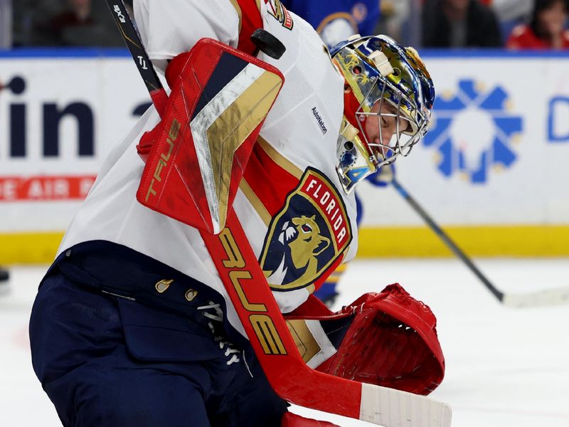
[[166, 80], [172, 91], [162, 120], [137, 147], [146, 160], [137, 200], [218, 234], [284, 78], [262, 60], [202, 38], [171, 60]]

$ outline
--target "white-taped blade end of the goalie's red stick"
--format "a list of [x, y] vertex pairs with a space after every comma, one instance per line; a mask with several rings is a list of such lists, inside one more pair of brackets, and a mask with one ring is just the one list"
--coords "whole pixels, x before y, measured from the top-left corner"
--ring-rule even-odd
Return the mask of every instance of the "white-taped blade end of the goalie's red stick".
[[425, 396], [362, 384], [360, 419], [385, 427], [450, 427], [452, 411]]

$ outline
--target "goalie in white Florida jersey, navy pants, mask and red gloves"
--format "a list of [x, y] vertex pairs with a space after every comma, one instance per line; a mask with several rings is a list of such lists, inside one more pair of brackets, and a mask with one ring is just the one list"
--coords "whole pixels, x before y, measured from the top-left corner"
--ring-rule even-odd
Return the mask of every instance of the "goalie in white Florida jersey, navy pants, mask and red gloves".
[[[201, 228], [179, 219], [181, 205], [205, 203], [191, 220], [224, 248], [235, 248], [223, 234], [228, 211], [238, 218], [265, 275], [255, 285], [300, 322], [289, 325], [311, 369], [435, 389], [444, 359], [428, 307], [398, 285], [336, 314], [312, 295], [356, 253], [354, 186], [427, 131], [434, 89], [418, 53], [373, 36], [330, 55], [277, 0], [138, 0], [134, 16], [171, 93], [105, 159], [31, 313], [33, 368], [63, 425], [321, 425], [294, 421], [267, 381], [220, 273], [240, 265], [238, 251], [214, 256]], [[256, 28], [285, 54], [257, 51]], [[176, 169], [169, 149], [183, 142], [195, 161]], [[159, 193], [168, 214], [149, 209], [171, 176], [181, 193]]]

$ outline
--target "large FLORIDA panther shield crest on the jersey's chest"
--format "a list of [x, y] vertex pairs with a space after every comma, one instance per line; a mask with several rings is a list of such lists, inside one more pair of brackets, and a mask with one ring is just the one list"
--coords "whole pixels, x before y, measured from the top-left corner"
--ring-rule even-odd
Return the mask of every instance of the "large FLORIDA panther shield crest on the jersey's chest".
[[322, 174], [307, 169], [269, 226], [260, 264], [273, 290], [312, 285], [351, 242], [344, 202]]

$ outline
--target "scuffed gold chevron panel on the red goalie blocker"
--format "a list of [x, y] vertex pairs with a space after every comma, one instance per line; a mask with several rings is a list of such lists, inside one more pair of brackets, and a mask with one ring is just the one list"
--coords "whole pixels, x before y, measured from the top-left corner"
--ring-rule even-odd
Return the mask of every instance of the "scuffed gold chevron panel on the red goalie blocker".
[[[223, 218], [223, 223], [225, 223], [228, 212], [229, 185], [234, 153], [265, 118], [281, 85], [280, 76], [265, 71], [232, 102], [207, 130], [212, 172], [218, 195], [218, 215], [219, 218]], [[223, 141], [223, 144], [220, 145], [220, 141]]]

